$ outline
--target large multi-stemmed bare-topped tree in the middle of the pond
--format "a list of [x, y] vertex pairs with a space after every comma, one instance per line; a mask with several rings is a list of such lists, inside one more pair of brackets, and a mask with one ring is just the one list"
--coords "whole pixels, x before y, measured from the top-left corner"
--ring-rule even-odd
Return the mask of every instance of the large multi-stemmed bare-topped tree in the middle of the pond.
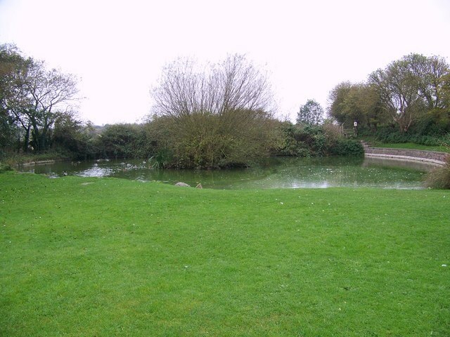
[[155, 112], [171, 120], [167, 146], [176, 166], [245, 164], [274, 139], [269, 81], [243, 55], [206, 67], [177, 60], [152, 95]]

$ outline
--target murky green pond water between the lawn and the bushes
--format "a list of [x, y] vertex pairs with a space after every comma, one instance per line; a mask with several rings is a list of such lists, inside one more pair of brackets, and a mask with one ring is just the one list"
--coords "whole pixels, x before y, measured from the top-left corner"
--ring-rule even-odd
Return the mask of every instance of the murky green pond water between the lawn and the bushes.
[[271, 158], [248, 169], [169, 170], [152, 169], [139, 160], [62, 161], [53, 164], [21, 166], [19, 171], [63, 176], [113, 177], [160, 181], [174, 185], [214, 189], [381, 187], [423, 188], [429, 164], [375, 158]]

